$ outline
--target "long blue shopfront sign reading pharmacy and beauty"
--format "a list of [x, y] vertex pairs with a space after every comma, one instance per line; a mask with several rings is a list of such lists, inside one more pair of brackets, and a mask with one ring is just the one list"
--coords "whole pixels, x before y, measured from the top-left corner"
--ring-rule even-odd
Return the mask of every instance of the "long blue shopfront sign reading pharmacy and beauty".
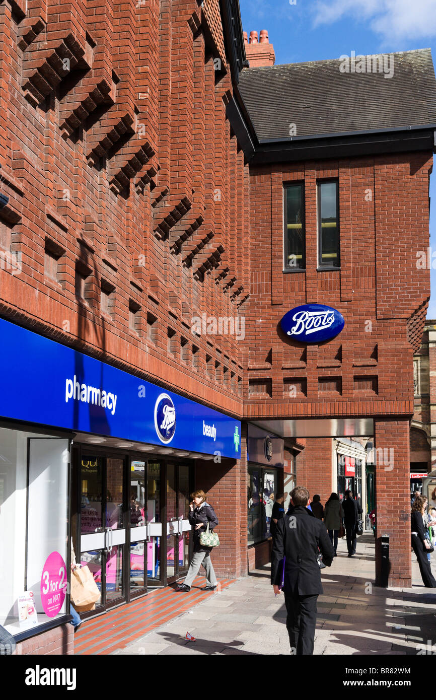
[[224, 457], [241, 422], [0, 319], [0, 416]]

